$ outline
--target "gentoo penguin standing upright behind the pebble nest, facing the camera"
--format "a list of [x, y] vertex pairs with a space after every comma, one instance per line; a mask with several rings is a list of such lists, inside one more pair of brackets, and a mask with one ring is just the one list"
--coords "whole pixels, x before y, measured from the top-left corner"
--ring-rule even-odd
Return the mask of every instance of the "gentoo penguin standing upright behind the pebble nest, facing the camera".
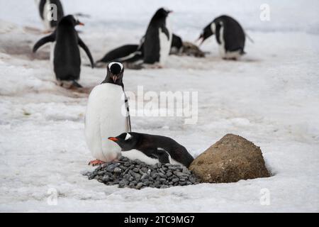
[[86, 144], [96, 158], [89, 165], [115, 160], [121, 154], [121, 148], [108, 137], [130, 132], [128, 99], [123, 85], [124, 67], [121, 62], [111, 62], [106, 71], [106, 79], [92, 89], [86, 108]]

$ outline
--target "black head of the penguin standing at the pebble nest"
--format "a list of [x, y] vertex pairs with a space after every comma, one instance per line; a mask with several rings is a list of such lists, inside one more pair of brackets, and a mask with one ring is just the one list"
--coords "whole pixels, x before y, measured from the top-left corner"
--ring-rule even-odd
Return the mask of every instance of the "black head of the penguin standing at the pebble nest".
[[106, 79], [103, 83], [111, 83], [123, 86], [124, 67], [121, 62], [110, 62], [106, 68]]

